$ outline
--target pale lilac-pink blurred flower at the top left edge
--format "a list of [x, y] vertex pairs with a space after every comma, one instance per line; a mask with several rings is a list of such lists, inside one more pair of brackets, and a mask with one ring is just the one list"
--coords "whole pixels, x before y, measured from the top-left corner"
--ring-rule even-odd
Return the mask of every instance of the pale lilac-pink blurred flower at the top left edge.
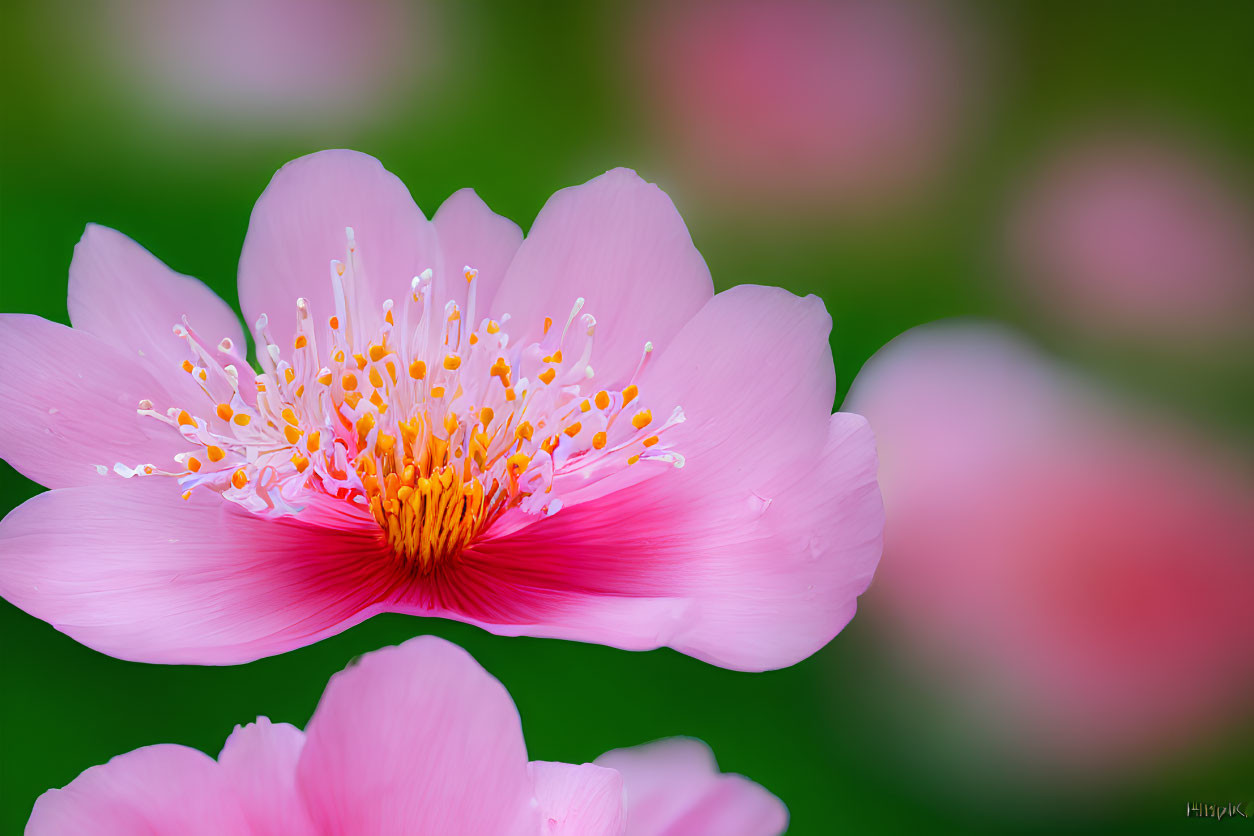
[[84, 38], [120, 73], [128, 99], [162, 120], [204, 123], [217, 133], [342, 130], [414, 95], [439, 44], [429, 5], [103, 0], [85, 16]]

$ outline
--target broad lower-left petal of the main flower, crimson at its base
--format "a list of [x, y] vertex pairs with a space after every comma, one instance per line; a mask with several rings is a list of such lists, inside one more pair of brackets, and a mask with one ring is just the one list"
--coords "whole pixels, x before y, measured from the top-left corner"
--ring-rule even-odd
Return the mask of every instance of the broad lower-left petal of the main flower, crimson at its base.
[[377, 612], [371, 529], [266, 520], [199, 493], [183, 501], [164, 479], [102, 479], [0, 523], [0, 594], [123, 659], [237, 664]]

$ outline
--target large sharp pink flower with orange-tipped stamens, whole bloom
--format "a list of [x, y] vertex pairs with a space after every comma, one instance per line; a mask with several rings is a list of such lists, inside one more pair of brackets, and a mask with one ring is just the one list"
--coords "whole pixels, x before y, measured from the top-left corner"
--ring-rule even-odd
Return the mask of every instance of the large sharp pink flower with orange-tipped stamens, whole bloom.
[[238, 663], [390, 610], [774, 668], [879, 558], [821, 301], [715, 296], [623, 169], [524, 242], [469, 189], [428, 222], [362, 154], [283, 167], [240, 262], [256, 376], [226, 303], [117, 232], [69, 295], [73, 330], [0, 321], [0, 454], [54, 489], [0, 525], [0, 593], [113, 656]]

